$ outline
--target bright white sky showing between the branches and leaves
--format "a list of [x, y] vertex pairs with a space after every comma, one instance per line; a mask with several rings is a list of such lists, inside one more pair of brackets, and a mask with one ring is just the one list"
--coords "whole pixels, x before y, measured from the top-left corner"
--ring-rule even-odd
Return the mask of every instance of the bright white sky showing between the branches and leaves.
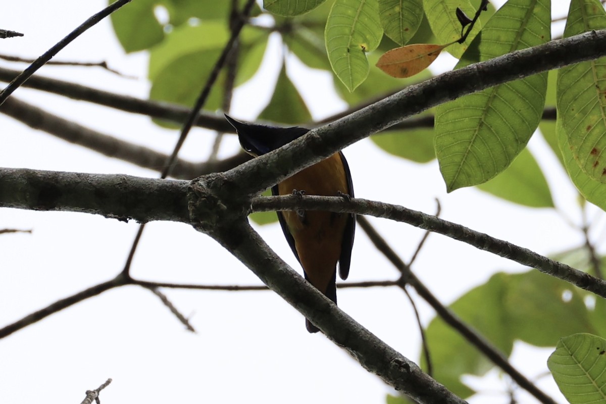
[[[555, 3], [559, 8], [554, 16], [564, 15], [568, 2]], [[101, 0], [5, 2], [0, 28], [25, 36], [0, 41], [0, 53], [35, 58], [104, 5]], [[265, 93], [264, 88], [273, 85], [279, 68], [276, 62], [281, 60], [281, 48], [276, 41], [271, 42], [267, 55], [264, 75], [256, 76], [236, 92], [234, 116], [252, 119], [264, 107], [259, 98]], [[147, 97], [147, 56], [124, 55], [108, 20], [68, 45], [56, 60], [107, 61], [110, 67], [138, 79], [120, 78], [98, 68], [44, 67], [39, 74]], [[440, 61], [441, 70], [452, 65], [448, 57]], [[1, 61], [0, 64], [25, 67]], [[289, 59], [288, 68], [315, 118], [344, 108], [344, 103], [327, 91], [331, 88], [327, 75], [305, 71], [293, 59]], [[14, 96], [103, 133], [165, 153], [170, 152], [176, 141], [175, 131], [162, 130], [142, 116], [26, 88], [19, 89]], [[196, 129], [180, 156], [193, 161], [204, 159], [211, 141], [208, 132]], [[107, 159], [30, 130], [2, 114], [0, 145], [0, 167], [158, 176], [153, 171]], [[579, 223], [576, 193], [568, 185], [562, 168], [545, 152], [547, 147], [538, 136], [533, 137], [530, 147], [550, 174], [548, 179], [558, 208]], [[237, 141], [230, 137], [221, 155], [229, 156], [237, 148]], [[541, 254], [576, 247], [582, 242], [581, 234], [572, 230], [554, 210], [517, 207], [474, 189], [446, 194], [437, 162], [418, 165], [402, 161], [370, 141], [348, 147], [345, 154], [358, 197], [427, 213], [435, 212], [437, 197], [444, 219]], [[397, 179], [398, 188], [385, 189], [386, 180], [381, 179], [385, 173], [390, 173], [390, 181]], [[405, 260], [410, 258], [422, 231], [387, 220], [371, 221]], [[115, 276], [124, 265], [138, 225], [87, 214], [0, 209], [0, 228], [33, 229], [33, 234], [4, 235], [0, 239], [0, 326], [4, 326]], [[603, 222], [599, 226], [602, 228]], [[300, 270], [277, 224], [258, 230], [281, 257]], [[434, 235], [413, 270], [443, 302], [451, 302], [496, 271], [524, 268]], [[209, 237], [186, 225], [164, 222], [147, 226], [133, 262], [133, 276], [201, 284], [259, 283]], [[396, 270], [370, 247], [359, 230], [349, 280], [385, 280], [397, 276]], [[385, 394], [392, 392], [324, 336], [308, 334], [303, 317], [271, 292], [164, 290], [164, 293], [182, 313], [191, 316], [197, 334], [185, 331], [159, 299], [146, 290], [129, 286], [109, 291], [0, 341], [0, 402], [32, 403], [41, 399], [80, 402], [85, 390], [96, 388], [108, 377], [113, 378], [113, 383], [102, 392], [105, 403], [135, 400], [380, 403], [384, 402]], [[348, 289], [338, 293], [343, 310], [405, 356], [418, 360], [419, 332], [400, 290]], [[418, 303], [427, 324], [433, 312], [419, 300]], [[545, 361], [549, 354], [550, 349], [518, 344], [512, 362], [534, 379], [547, 370]], [[471, 383], [489, 392], [471, 402], [508, 402], [505, 395], [495, 396], [495, 392], [507, 386], [507, 377], [503, 378], [498, 371]], [[542, 377], [538, 385], [559, 402], [565, 402], [551, 377]], [[530, 402], [525, 394], [519, 397]]]

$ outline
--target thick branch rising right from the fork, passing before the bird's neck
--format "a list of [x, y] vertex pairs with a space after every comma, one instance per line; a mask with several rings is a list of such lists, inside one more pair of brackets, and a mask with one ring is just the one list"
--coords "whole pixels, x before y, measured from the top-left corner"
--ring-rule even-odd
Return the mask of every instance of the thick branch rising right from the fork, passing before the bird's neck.
[[551, 41], [479, 62], [411, 85], [375, 104], [225, 173], [242, 193], [257, 194], [336, 151], [466, 94], [606, 55], [606, 30]]

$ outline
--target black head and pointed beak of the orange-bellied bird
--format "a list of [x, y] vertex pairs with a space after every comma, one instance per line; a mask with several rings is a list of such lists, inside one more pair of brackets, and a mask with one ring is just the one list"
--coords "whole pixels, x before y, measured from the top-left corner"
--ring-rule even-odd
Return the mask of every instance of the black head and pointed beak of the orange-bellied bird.
[[242, 148], [252, 156], [261, 156], [303, 136], [309, 129], [298, 126], [279, 128], [265, 125], [247, 124], [236, 121], [225, 114], [225, 119], [236, 129]]

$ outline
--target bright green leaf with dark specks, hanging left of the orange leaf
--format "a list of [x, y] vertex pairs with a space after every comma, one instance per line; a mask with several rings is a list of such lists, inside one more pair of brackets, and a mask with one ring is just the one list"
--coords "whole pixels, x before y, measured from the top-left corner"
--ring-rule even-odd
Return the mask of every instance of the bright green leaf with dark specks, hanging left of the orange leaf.
[[336, 76], [353, 91], [368, 76], [366, 52], [383, 35], [378, 0], [336, 0], [325, 30], [328, 60]]

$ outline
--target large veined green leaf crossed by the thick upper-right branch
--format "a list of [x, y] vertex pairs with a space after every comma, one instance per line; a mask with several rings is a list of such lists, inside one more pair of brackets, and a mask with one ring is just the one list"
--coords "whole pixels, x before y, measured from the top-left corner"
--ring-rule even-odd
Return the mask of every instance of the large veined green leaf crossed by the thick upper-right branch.
[[[488, 21], [456, 68], [550, 39], [548, 0], [510, 0]], [[440, 105], [436, 154], [448, 192], [481, 184], [511, 164], [541, 120], [547, 72]]]

